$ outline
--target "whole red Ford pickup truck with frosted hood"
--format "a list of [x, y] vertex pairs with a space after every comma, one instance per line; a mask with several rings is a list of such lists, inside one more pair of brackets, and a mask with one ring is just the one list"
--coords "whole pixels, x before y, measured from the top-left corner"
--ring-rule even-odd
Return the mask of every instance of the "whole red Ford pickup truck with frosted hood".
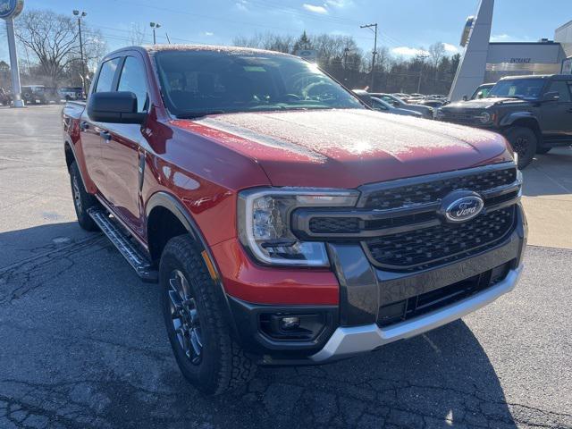
[[504, 138], [379, 114], [295, 56], [123, 48], [63, 128], [80, 226], [160, 283], [174, 356], [208, 393], [447, 324], [521, 271]]

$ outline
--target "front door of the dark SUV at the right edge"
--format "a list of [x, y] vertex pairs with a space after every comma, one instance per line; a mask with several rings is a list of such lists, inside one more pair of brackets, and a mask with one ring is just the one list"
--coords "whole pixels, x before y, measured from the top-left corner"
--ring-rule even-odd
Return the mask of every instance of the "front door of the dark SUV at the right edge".
[[572, 96], [566, 80], [552, 80], [546, 92], [558, 92], [558, 101], [543, 104], [543, 135], [555, 142], [572, 139]]

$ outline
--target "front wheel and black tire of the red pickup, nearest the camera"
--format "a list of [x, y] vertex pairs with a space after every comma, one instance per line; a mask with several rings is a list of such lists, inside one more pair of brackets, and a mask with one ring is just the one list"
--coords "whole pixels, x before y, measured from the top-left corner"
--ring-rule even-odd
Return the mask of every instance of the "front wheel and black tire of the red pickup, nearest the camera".
[[167, 335], [184, 377], [210, 395], [248, 382], [256, 365], [232, 340], [200, 252], [188, 235], [167, 243], [159, 265]]

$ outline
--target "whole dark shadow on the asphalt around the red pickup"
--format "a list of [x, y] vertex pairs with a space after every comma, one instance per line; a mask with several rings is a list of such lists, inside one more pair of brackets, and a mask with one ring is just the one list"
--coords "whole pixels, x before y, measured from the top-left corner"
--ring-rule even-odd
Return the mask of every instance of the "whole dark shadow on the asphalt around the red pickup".
[[160, 289], [101, 234], [59, 223], [0, 243], [23, 252], [0, 268], [0, 405], [44, 416], [38, 427], [516, 427], [462, 321], [331, 365], [260, 367], [206, 397], [176, 367]]

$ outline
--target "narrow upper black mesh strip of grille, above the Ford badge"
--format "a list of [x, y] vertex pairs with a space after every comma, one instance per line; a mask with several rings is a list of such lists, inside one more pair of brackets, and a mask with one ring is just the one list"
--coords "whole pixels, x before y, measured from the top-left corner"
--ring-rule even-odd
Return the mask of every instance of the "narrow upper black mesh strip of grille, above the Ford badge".
[[445, 197], [450, 191], [470, 189], [475, 192], [506, 186], [517, 180], [517, 169], [505, 168], [441, 181], [414, 183], [398, 188], [381, 189], [367, 195], [365, 207], [374, 209], [397, 208], [430, 203]]

